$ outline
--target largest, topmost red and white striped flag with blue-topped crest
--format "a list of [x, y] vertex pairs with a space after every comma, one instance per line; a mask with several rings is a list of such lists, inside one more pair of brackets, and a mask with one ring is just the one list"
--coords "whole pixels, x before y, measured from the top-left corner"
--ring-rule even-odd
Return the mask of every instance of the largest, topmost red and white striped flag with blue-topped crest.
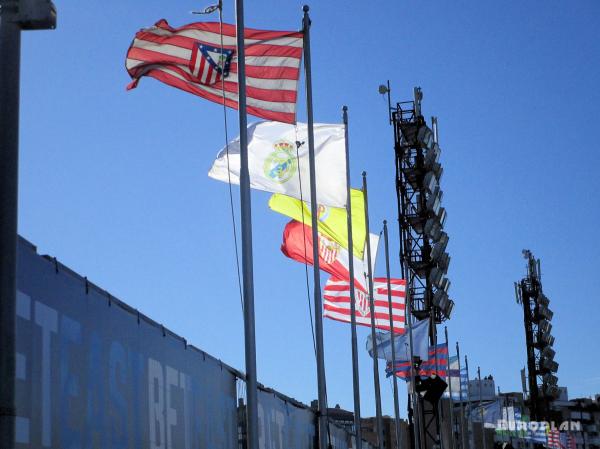
[[[237, 109], [235, 26], [223, 24], [222, 29], [221, 35], [218, 22], [173, 28], [162, 19], [139, 31], [127, 51], [126, 68], [133, 79], [127, 89], [150, 76]], [[244, 38], [248, 114], [295, 123], [303, 34], [246, 28]]]

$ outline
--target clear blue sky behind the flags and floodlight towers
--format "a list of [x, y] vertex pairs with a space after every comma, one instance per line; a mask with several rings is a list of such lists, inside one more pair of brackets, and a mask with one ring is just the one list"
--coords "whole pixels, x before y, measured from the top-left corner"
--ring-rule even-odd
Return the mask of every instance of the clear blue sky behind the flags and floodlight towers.
[[[55, 31], [23, 34], [20, 233], [243, 369], [227, 185], [206, 175], [223, 146], [221, 107], [152, 79], [125, 91], [134, 33], [160, 18], [198, 20], [188, 12], [206, 4], [55, 3]], [[298, 29], [301, 7], [248, 1], [246, 24]], [[232, 0], [225, 8], [232, 22]], [[439, 117], [456, 302], [448, 327], [471, 374], [480, 365], [502, 390], [520, 389], [513, 282], [529, 248], [555, 312], [559, 384], [571, 396], [600, 392], [600, 3], [335, 0], [315, 2], [311, 15], [315, 118], [338, 122], [349, 106], [353, 182], [370, 174], [371, 226], [390, 221], [396, 274], [393, 137], [378, 85], [389, 79], [398, 101], [421, 86], [425, 115]], [[235, 112], [229, 120], [234, 136]], [[317, 388], [304, 267], [280, 253], [286, 219], [267, 200], [253, 193], [259, 380], [309, 402]], [[371, 415], [367, 333], [359, 329], [360, 374]], [[349, 326], [325, 321], [325, 352], [330, 404], [351, 409]], [[382, 391], [391, 414], [388, 381]]]

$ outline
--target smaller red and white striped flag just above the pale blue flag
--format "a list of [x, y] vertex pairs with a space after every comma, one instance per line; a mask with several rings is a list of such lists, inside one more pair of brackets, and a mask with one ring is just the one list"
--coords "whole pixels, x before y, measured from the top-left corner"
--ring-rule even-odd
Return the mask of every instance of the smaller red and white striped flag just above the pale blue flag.
[[[392, 287], [392, 316], [394, 332], [404, 333], [406, 322], [406, 281], [390, 279]], [[356, 324], [371, 326], [369, 295], [359, 288], [354, 289]], [[323, 316], [332, 320], [350, 322], [350, 283], [346, 280], [331, 277], [324, 290]], [[375, 327], [390, 330], [390, 313], [388, 306], [387, 278], [373, 280], [373, 300], [375, 306]]]

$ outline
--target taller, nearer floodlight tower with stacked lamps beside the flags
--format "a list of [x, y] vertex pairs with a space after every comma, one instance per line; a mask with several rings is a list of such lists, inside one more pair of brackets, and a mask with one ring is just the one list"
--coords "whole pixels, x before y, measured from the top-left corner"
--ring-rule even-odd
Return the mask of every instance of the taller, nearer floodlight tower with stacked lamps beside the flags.
[[[437, 119], [431, 127], [421, 113], [421, 89], [414, 99], [390, 103], [389, 83], [379, 91], [388, 94], [390, 123], [394, 128], [396, 156], [396, 193], [400, 227], [400, 263], [406, 279], [407, 299], [412, 316], [430, 320], [430, 344], [437, 344], [436, 325], [450, 318], [454, 302], [448, 297], [446, 277], [450, 256], [446, 252], [448, 234], [444, 232], [446, 210], [441, 205]], [[412, 319], [412, 318], [410, 318]], [[438, 406], [422, 404], [421, 449], [440, 445]], [[418, 416], [417, 416], [418, 417]]]

